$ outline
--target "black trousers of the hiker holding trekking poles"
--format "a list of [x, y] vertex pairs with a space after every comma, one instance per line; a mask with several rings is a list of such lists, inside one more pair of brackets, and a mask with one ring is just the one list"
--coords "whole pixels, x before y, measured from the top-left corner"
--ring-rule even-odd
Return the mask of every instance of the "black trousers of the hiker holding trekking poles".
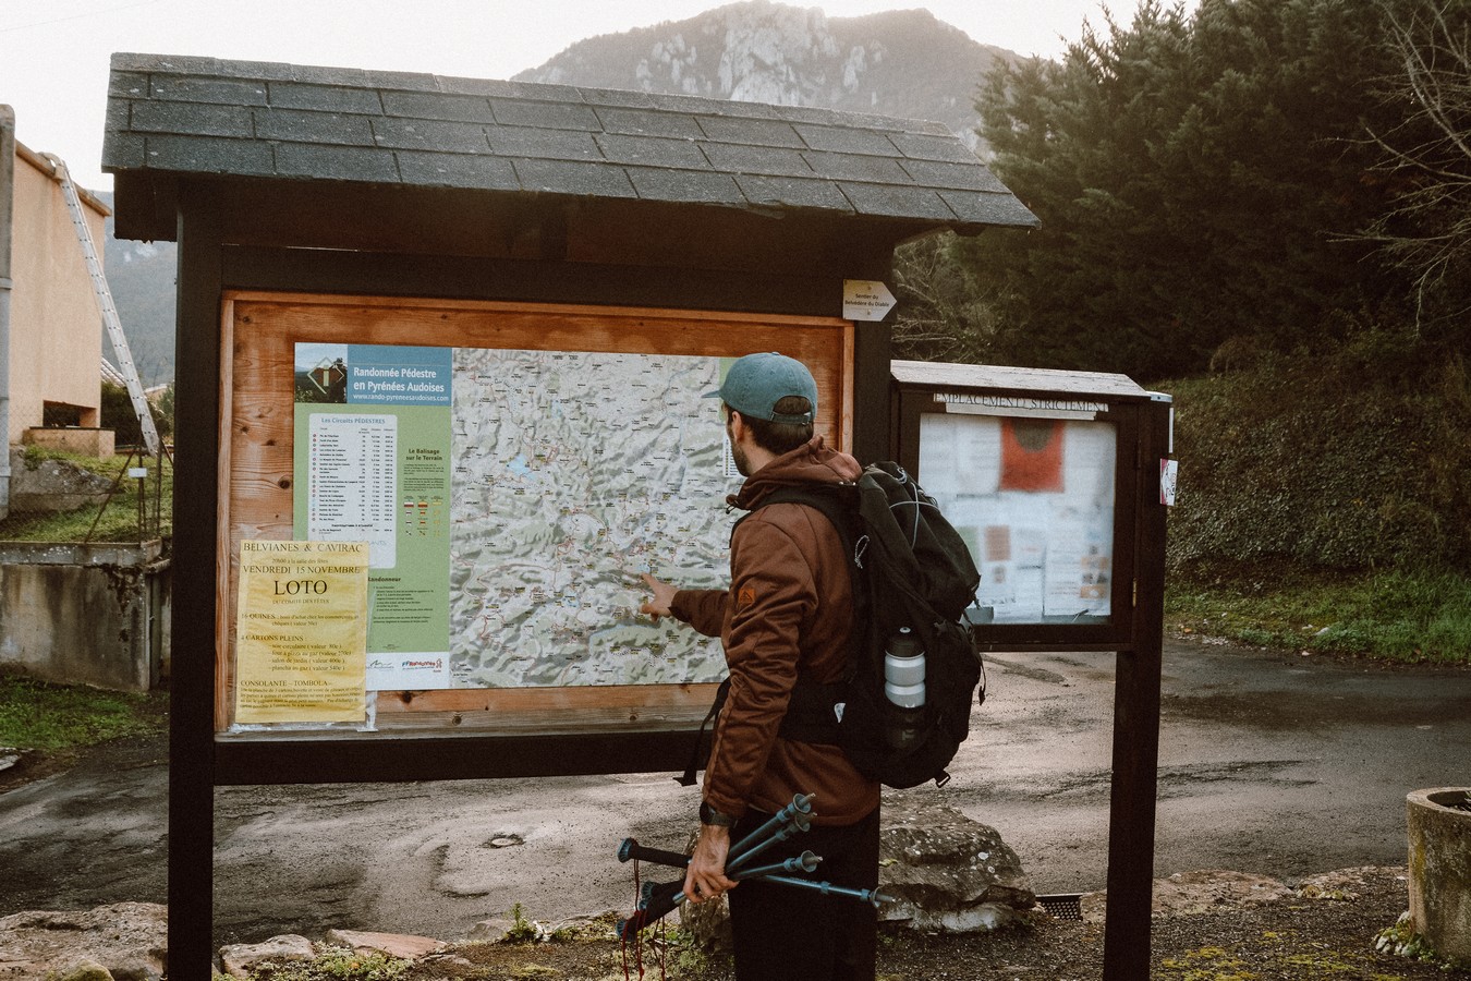
[[[747, 813], [733, 830], [731, 843], [769, 818]], [[791, 872], [793, 878], [878, 888], [878, 807], [858, 824], [812, 825], [750, 865], [774, 865], [803, 852], [821, 855], [822, 862], [815, 872]], [[874, 981], [878, 913], [871, 903], [761, 880], [741, 882], [727, 897], [737, 981]]]

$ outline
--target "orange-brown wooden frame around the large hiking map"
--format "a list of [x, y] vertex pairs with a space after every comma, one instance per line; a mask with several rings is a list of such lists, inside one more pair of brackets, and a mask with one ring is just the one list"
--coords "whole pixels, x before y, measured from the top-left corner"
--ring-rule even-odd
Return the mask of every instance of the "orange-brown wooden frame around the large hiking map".
[[[702, 356], [780, 349], [812, 368], [821, 394], [818, 431], [840, 449], [853, 443], [855, 332], [852, 322], [837, 318], [227, 291], [219, 356], [216, 734], [232, 724], [240, 541], [293, 537], [291, 363], [302, 341]], [[708, 710], [712, 691], [709, 684], [384, 691], [375, 703], [375, 732], [332, 728], [316, 735], [688, 731]], [[250, 731], [227, 738], [272, 735]]]

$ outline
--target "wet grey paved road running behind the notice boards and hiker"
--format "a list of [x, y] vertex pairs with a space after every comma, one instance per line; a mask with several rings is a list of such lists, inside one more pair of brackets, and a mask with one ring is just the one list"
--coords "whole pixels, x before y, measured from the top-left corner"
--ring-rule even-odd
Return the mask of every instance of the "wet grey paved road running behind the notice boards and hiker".
[[[955, 780], [1039, 893], [1106, 875], [1112, 654], [996, 654]], [[1471, 784], [1471, 669], [1377, 668], [1171, 643], [1156, 874], [1293, 880], [1405, 862], [1405, 794]], [[0, 915], [165, 902], [162, 747], [101, 753], [0, 794]], [[668, 774], [216, 791], [219, 943], [331, 927], [460, 937], [521, 903], [556, 921], [633, 906], [625, 835], [683, 847]]]

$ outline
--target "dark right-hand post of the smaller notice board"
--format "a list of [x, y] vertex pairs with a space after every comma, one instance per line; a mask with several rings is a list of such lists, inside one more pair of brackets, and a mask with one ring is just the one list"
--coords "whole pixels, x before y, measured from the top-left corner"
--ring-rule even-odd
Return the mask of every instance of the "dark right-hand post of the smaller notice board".
[[1147, 981], [1153, 907], [1165, 618], [1165, 506], [1161, 503], [1159, 462], [1169, 454], [1169, 397], [1158, 396], [1140, 412], [1134, 627], [1131, 646], [1118, 653], [1115, 668], [1105, 981]]

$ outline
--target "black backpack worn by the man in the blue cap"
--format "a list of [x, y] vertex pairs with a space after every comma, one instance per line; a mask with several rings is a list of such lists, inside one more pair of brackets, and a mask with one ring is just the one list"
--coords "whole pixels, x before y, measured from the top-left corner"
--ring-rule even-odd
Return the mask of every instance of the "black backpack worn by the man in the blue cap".
[[[808, 484], [768, 494], [821, 510], [843, 538], [853, 577], [853, 653], [843, 681], [799, 679], [784, 738], [837, 744], [887, 787], [943, 785], [946, 765], [969, 732], [971, 699], [986, 700], [980, 650], [964, 621], [981, 577], [965, 543], [897, 463], [872, 463], [853, 484]], [[747, 515], [749, 516], [749, 515]], [[744, 521], [744, 518], [743, 518]], [[884, 650], [908, 628], [925, 654], [922, 709], [896, 712], [884, 694]], [[724, 702], [721, 687], [706, 718]], [[896, 725], [900, 740], [891, 738]], [[693, 782], [693, 766], [681, 782]]]

